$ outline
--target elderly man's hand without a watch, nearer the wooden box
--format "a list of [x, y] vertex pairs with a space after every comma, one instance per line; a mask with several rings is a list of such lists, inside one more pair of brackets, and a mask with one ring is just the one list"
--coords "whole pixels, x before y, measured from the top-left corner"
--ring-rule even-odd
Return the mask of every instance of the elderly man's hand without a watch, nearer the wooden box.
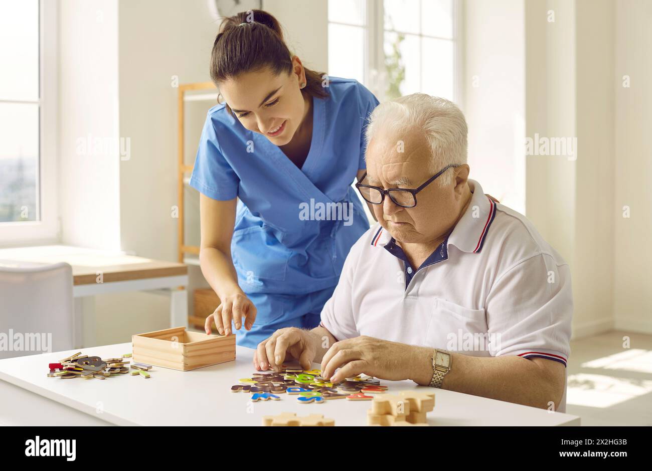
[[269, 339], [263, 340], [254, 354], [254, 368], [265, 371], [283, 365], [286, 357], [298, 359], [303, 369], [312, 367], [312, 360], [317, 353], [316, 336], [311, 331], [287, 327], [278, 329]]

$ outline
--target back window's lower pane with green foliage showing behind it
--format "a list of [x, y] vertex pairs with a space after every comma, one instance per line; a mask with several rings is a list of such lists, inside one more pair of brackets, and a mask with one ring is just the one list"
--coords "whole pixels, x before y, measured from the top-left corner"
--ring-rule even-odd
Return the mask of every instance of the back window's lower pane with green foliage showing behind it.
[[385, 33], [387, 99], [421, 91], [421, 41], [419, 36]]

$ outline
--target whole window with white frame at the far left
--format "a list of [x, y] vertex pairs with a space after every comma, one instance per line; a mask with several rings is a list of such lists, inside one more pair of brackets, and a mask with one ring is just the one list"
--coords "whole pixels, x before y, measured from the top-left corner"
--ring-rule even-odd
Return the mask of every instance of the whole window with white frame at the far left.
[[56, 237], [55, 107], [44, 107], [56, 92], [56, 40], [43, 40], [55, 11], [54, 2], [0, 0], [0, 244]]

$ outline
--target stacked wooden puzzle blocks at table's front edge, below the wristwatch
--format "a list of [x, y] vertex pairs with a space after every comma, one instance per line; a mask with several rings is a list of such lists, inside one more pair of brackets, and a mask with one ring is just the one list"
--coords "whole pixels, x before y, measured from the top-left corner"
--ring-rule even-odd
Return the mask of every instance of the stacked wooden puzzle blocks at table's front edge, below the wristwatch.
[[401, 391], [374, 397], [367, 411], [367, 425], [381, 427], [428, 426], [426, 414], [435, 407], [435, 393]]

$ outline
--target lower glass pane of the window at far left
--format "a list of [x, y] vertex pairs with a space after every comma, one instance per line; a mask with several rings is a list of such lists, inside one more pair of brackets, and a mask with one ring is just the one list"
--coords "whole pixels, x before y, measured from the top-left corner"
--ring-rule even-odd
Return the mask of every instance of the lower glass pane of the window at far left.
[[38, 104], [0, 103], [0, 222], [38, 220]]

